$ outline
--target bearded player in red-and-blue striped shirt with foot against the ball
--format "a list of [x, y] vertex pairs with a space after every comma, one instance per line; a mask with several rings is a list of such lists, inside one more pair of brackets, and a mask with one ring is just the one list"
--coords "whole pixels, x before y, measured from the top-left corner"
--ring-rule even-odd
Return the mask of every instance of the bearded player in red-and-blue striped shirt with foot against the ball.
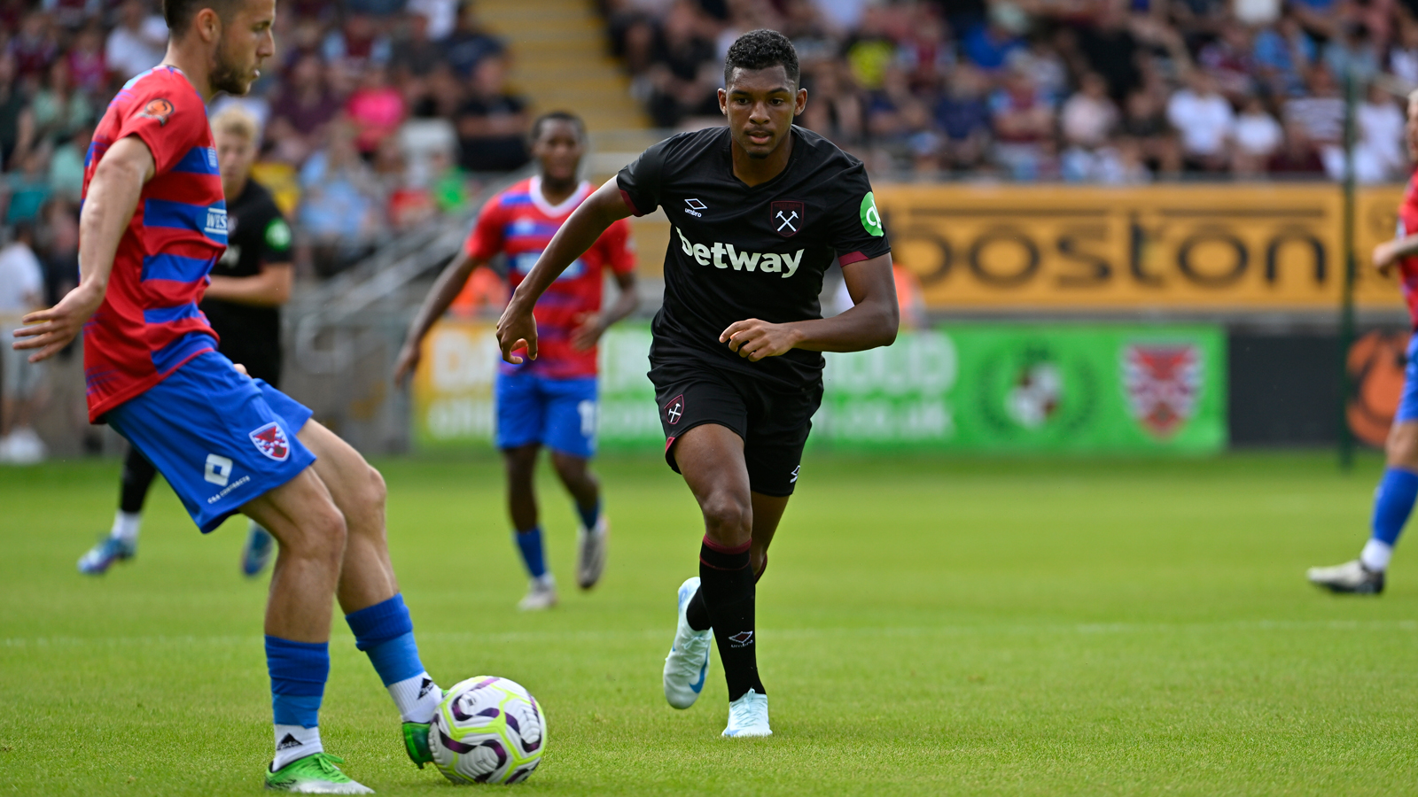
[[[279, 540], [265, 611], [275, 747], [265, 786], [367, 794], [320, 742], [332, 604], [393, 698], [420, 767], [432, 760], [441, 698], [389, 560], [384, 481], [311, 410], [218, 353], [197, 306], [227, 248], [206, 105], [217, 92], [245, 94], [275, 54], [275, 0], [166, 0], [163, 16], [163, 62], [128, 81], [94, 130], [79, 285], [27, 315], [14, 346], [38, 362], [82, 335], [89, 421], [155, 464], [200, 530], [240, 512]], [[201, 771], [200, 760], [163, 753], [176, 771]]]

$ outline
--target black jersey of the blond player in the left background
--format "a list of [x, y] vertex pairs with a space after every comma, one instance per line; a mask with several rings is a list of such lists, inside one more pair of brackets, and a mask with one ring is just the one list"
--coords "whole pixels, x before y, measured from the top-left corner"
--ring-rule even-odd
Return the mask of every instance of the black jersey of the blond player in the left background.
[[[255, 180], [227, 203], [227, 251], [211, 267], [213, 275], [255, 277], [261, 264], [291, 262], [291, 225], [281, 216], [271, 191]], [[279, 308], [258, 308], [220, 299], [203, 299], [201, 312], [221, 339], [221, 352], [233, 362], [237, 352], [251, 356], [281, 349]]]

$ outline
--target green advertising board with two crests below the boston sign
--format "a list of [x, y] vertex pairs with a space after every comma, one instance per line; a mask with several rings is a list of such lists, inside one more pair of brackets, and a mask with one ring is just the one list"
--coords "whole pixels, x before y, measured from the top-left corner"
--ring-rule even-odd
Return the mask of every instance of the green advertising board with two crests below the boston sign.
[[[444, 321], [414, 380], [424, 448], [491, 445], [498, 349], [485, 322]], [[608, 450], [664, 445], [649, 329], [601, 343], [594, 421]], [[888, 349], [828, 353], [810, 445], [878, 451], [1184, 452], [1227, 444], [1219, 326], [950, 325]]]

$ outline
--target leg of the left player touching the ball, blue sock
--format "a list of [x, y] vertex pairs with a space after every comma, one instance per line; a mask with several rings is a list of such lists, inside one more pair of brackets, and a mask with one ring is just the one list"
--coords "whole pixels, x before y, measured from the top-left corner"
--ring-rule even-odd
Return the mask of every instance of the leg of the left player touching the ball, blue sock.
[[[313, 469], [349, 529], [335, 596], [356, 647], [369, 655], [398, 708], [408, 756], [423, 767], [432, 760], [428, 723], [442, 692], [418, 657], [414, 624], [389, 559], [384, 479], [354, 448], [316, 421], [308, 421], [298, 437], [318, 457]], [[279, 562], [278, 557], [278, 567]]]

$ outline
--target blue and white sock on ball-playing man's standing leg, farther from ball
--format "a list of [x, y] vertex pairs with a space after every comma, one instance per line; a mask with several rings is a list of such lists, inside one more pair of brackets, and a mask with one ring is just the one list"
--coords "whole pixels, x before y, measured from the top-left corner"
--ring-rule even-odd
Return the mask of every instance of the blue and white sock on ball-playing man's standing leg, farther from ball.
[[271, 771], [325, 750], [320, 745], [320, 699], [330, 676], [329, 642], [296, 642], [267, 635], [271, 712], [275, 715], [275, 757]]

